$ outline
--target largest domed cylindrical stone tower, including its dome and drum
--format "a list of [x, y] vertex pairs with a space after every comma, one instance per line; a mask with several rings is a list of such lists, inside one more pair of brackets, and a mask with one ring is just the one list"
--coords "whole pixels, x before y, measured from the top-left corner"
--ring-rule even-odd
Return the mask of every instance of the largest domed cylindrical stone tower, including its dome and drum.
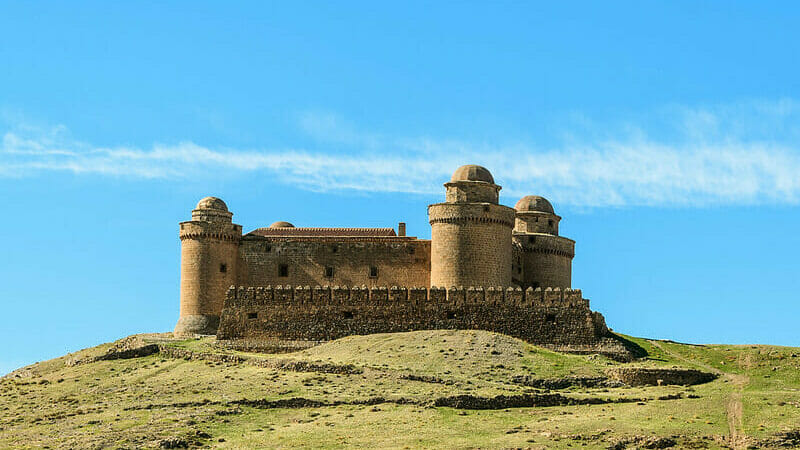
[[500, 186], [475, 165], [444, 186], [445, 202], [428, 206], [431, 286], [510, 286], [514, 210], [497, 203]]

